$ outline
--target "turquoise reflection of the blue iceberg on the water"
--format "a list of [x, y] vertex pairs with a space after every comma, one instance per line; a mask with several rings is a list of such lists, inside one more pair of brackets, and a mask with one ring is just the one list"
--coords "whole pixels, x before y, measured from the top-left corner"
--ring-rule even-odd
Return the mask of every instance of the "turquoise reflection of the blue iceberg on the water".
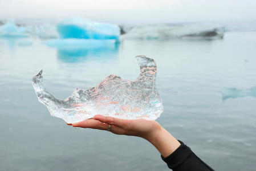
[[111, 58], [117, 57], [119, 43], [113, 46], [100, 46], [95, 48], [58, 48], [58, 59], [66, 63], [83, 62], [87, 58]]

